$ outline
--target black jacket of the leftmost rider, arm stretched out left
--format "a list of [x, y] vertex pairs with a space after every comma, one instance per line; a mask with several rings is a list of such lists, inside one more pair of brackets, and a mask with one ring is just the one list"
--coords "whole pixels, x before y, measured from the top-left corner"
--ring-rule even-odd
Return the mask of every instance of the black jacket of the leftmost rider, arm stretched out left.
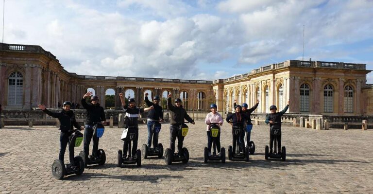
[[61, 112], [51, 112], [47, 109], [43, 110], [49, 116], [57, 118], [60, 121], [60, 130], [62, 132], [71, 132], [74, 130], [73, 126], [80, 130], [81, 126], [76, 122], [74, 112], [72, 110], [65, 111], [64, 109]]

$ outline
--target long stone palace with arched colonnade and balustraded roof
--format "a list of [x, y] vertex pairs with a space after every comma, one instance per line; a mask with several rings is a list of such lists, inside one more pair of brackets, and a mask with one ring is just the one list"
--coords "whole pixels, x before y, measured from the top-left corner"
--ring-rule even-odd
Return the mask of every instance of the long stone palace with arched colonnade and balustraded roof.
[[[232, 111], [237, 104], [254, 106], [258, 113], [269, 106], [281, 110], [290, 101], [288, 112], [302, 114], [360, 116], [373, 114], [373, 87], [366, 84], [366, 64], [288, 60], [263, 66], [246, 74], [213, 81], [168, 78], [77, 75], [66, 71], [56, 56], [40, 46], [0, 44], [0, 104], [4, 109], [31, 109], [39, 104], [56, 108], [58, 103], [80, 103], [93, 88], [105, 107], [105, 93], [132, 90], [138, 105], [144, 93], [179, 97], [189, 110]], [[164, 103], [164, 102], [163, 102]]]

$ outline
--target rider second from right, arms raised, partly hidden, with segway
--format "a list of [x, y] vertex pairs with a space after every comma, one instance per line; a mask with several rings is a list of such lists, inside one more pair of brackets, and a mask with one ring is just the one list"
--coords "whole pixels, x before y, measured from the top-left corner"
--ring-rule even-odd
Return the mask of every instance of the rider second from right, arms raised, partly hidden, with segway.
[[[236, 106], [236, 100], [234, 103], [234, 106]], [[249, 117], [249, 120], [244, 124], [243, 128], [245, 129], [243, 133], [240, 135], [240, 141], [245, 142], [245, 145], [249, 147], [250, 154], [255, 153], [255, 143], [254, 141], [250, 141], [251, 137], [251, 130], [253, 129], [253, 124], [251, 123], [251, 113], [254, 112], [254, 110], [258, 107], [259, 105], [259, 100], [256, 101], [256, 104], [251, 107], [250, 109], [248, 108], [248, 105], [246, 103], [242, 104], [242, 112], [246, 114], [247, 117]], [[244, 138], [246, 136], [246, 139]]]

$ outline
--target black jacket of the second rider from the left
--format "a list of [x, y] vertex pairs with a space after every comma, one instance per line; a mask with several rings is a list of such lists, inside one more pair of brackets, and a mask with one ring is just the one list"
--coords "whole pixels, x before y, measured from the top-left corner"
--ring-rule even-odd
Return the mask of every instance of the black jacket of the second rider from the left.
[[85, 120], [86, 124], [93, 125], [94, 123], [106, 121], [105, 113], [103, 112], [103, 108], [100, 106], [100, 104], [87, 104], [84, 98], [82, 98], [81, 101], [83, 107], [87, 110], [87, 119]]

